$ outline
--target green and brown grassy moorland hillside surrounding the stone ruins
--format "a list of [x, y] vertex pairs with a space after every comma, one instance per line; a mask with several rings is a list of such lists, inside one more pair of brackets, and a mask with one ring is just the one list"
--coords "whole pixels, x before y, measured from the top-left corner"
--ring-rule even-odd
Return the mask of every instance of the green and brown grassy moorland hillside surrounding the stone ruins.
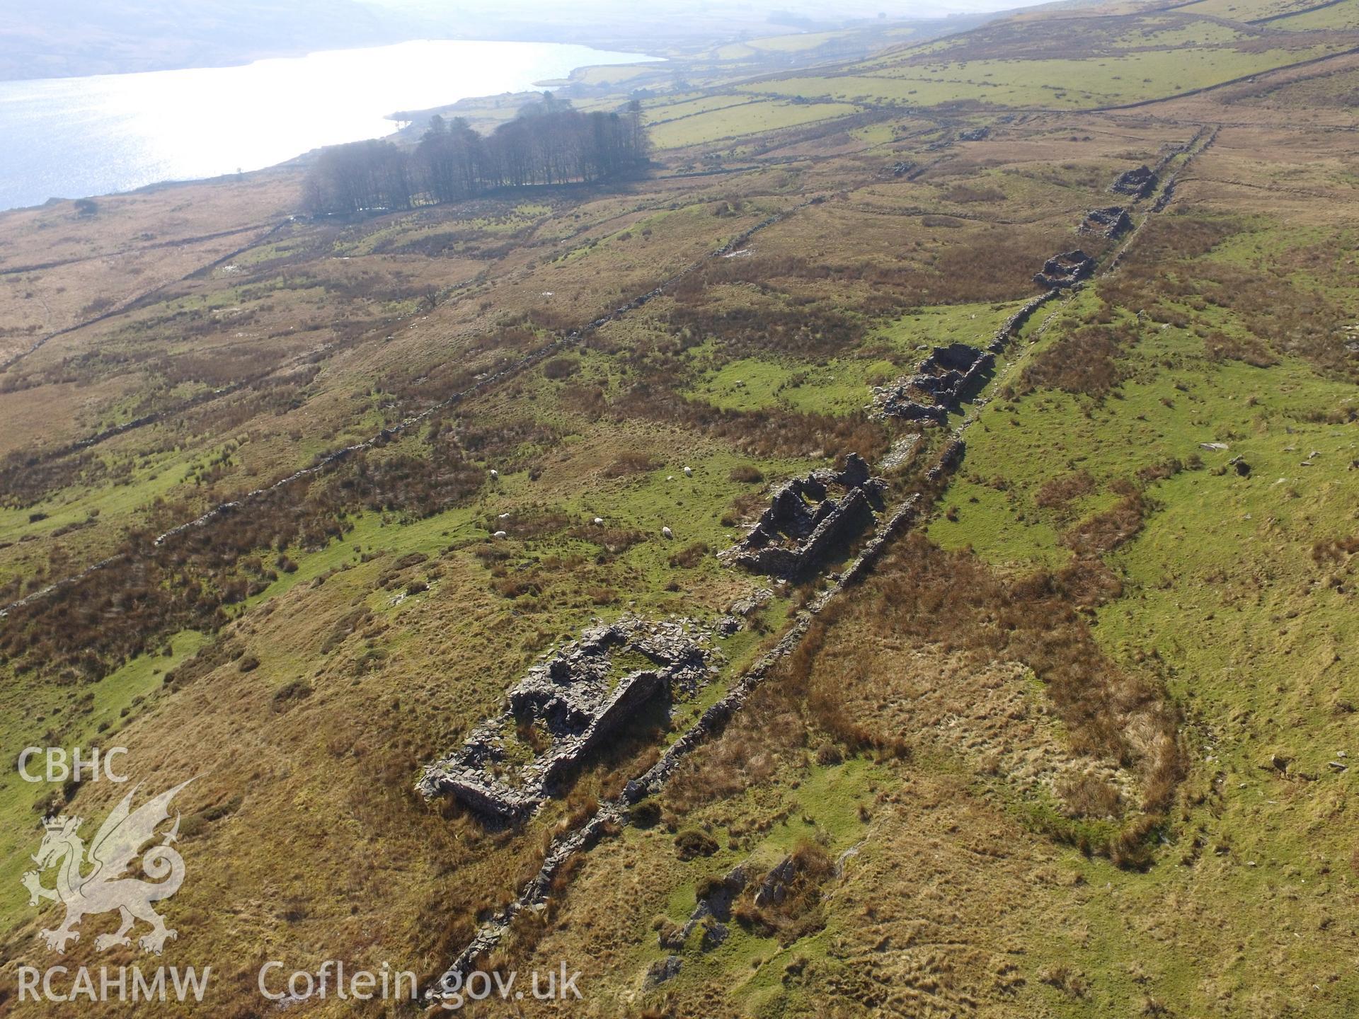
[[[310, 221], [280, 168], [5, 213], [5, 746], [200, 776], [162, 961], [226, 1016], [265, 959], [428, 985], [478, 928], [481, 966], [583, 974], [485, 1015], [1354, 1015], [1359, 35], [1238, 7], [688, 82], [633, 182]], [[1110, 205], [1129, 230], [1078, 232]], [[996, 360], [943, 424], [883, 417], [950, 344]], [[871, 529], [786, 583], [719, 558], [851, 452], [862, 567]], [[712, 674], [519, 823], [416, 792], [625, 615]], [[501, 736], [507, 772], [544, 738]], [[7, 990], [57, 958], [41, 818], [121, 795], [4, 776]], [[61, 965], [145, 965], [114, 923]]]

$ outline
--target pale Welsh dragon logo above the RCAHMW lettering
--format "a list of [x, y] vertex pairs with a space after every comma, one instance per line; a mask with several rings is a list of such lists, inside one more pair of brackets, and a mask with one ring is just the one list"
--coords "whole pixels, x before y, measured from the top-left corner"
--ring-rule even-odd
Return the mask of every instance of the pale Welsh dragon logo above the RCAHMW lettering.
[[[38, 870], [23, 875], [23, 886], [29, 890], [30, 906], [50, 898], [67, 908], [61, 927], [38, 932], [49, 948], [64, 952], [68, 942], [80, 940], [75, 927], [84, 916], [113, 910], [118, 910], [122, 923], [116, 933], [95, 939], [94, 947], [99, 951], [130, 944], [128, 931], [137, 920], [151, 924], [151, 931], [137, 940], [143, 951], [159, 954], [166, 939], [175, 937], [151, 904], [170, 898], [183, 883], [183, 859], [170, 845], [179, 836], [179, 814], [175, 812], [174, 827], [164, 833], [160, 842], [145, 853], [141, 853], [141, 846], [156, 837], [156, 827], [170, 817], [170, 800], [188, 784], [181, 783], [132, 810], [132, 798], [141, 788], [135, 787], [99, 826], [88, 853], [79, 834], [83, 818], [53, 817], [42, 822], [42, 845], [33, 856]], [[151, 880], [124, 876], [139, 853], [141, 870]], [[53, 867], [57, 868], [57, 884], [54, 889], [43, 887], [42, 871]], [[87, 867], [88, 872], [83, 872]]]

